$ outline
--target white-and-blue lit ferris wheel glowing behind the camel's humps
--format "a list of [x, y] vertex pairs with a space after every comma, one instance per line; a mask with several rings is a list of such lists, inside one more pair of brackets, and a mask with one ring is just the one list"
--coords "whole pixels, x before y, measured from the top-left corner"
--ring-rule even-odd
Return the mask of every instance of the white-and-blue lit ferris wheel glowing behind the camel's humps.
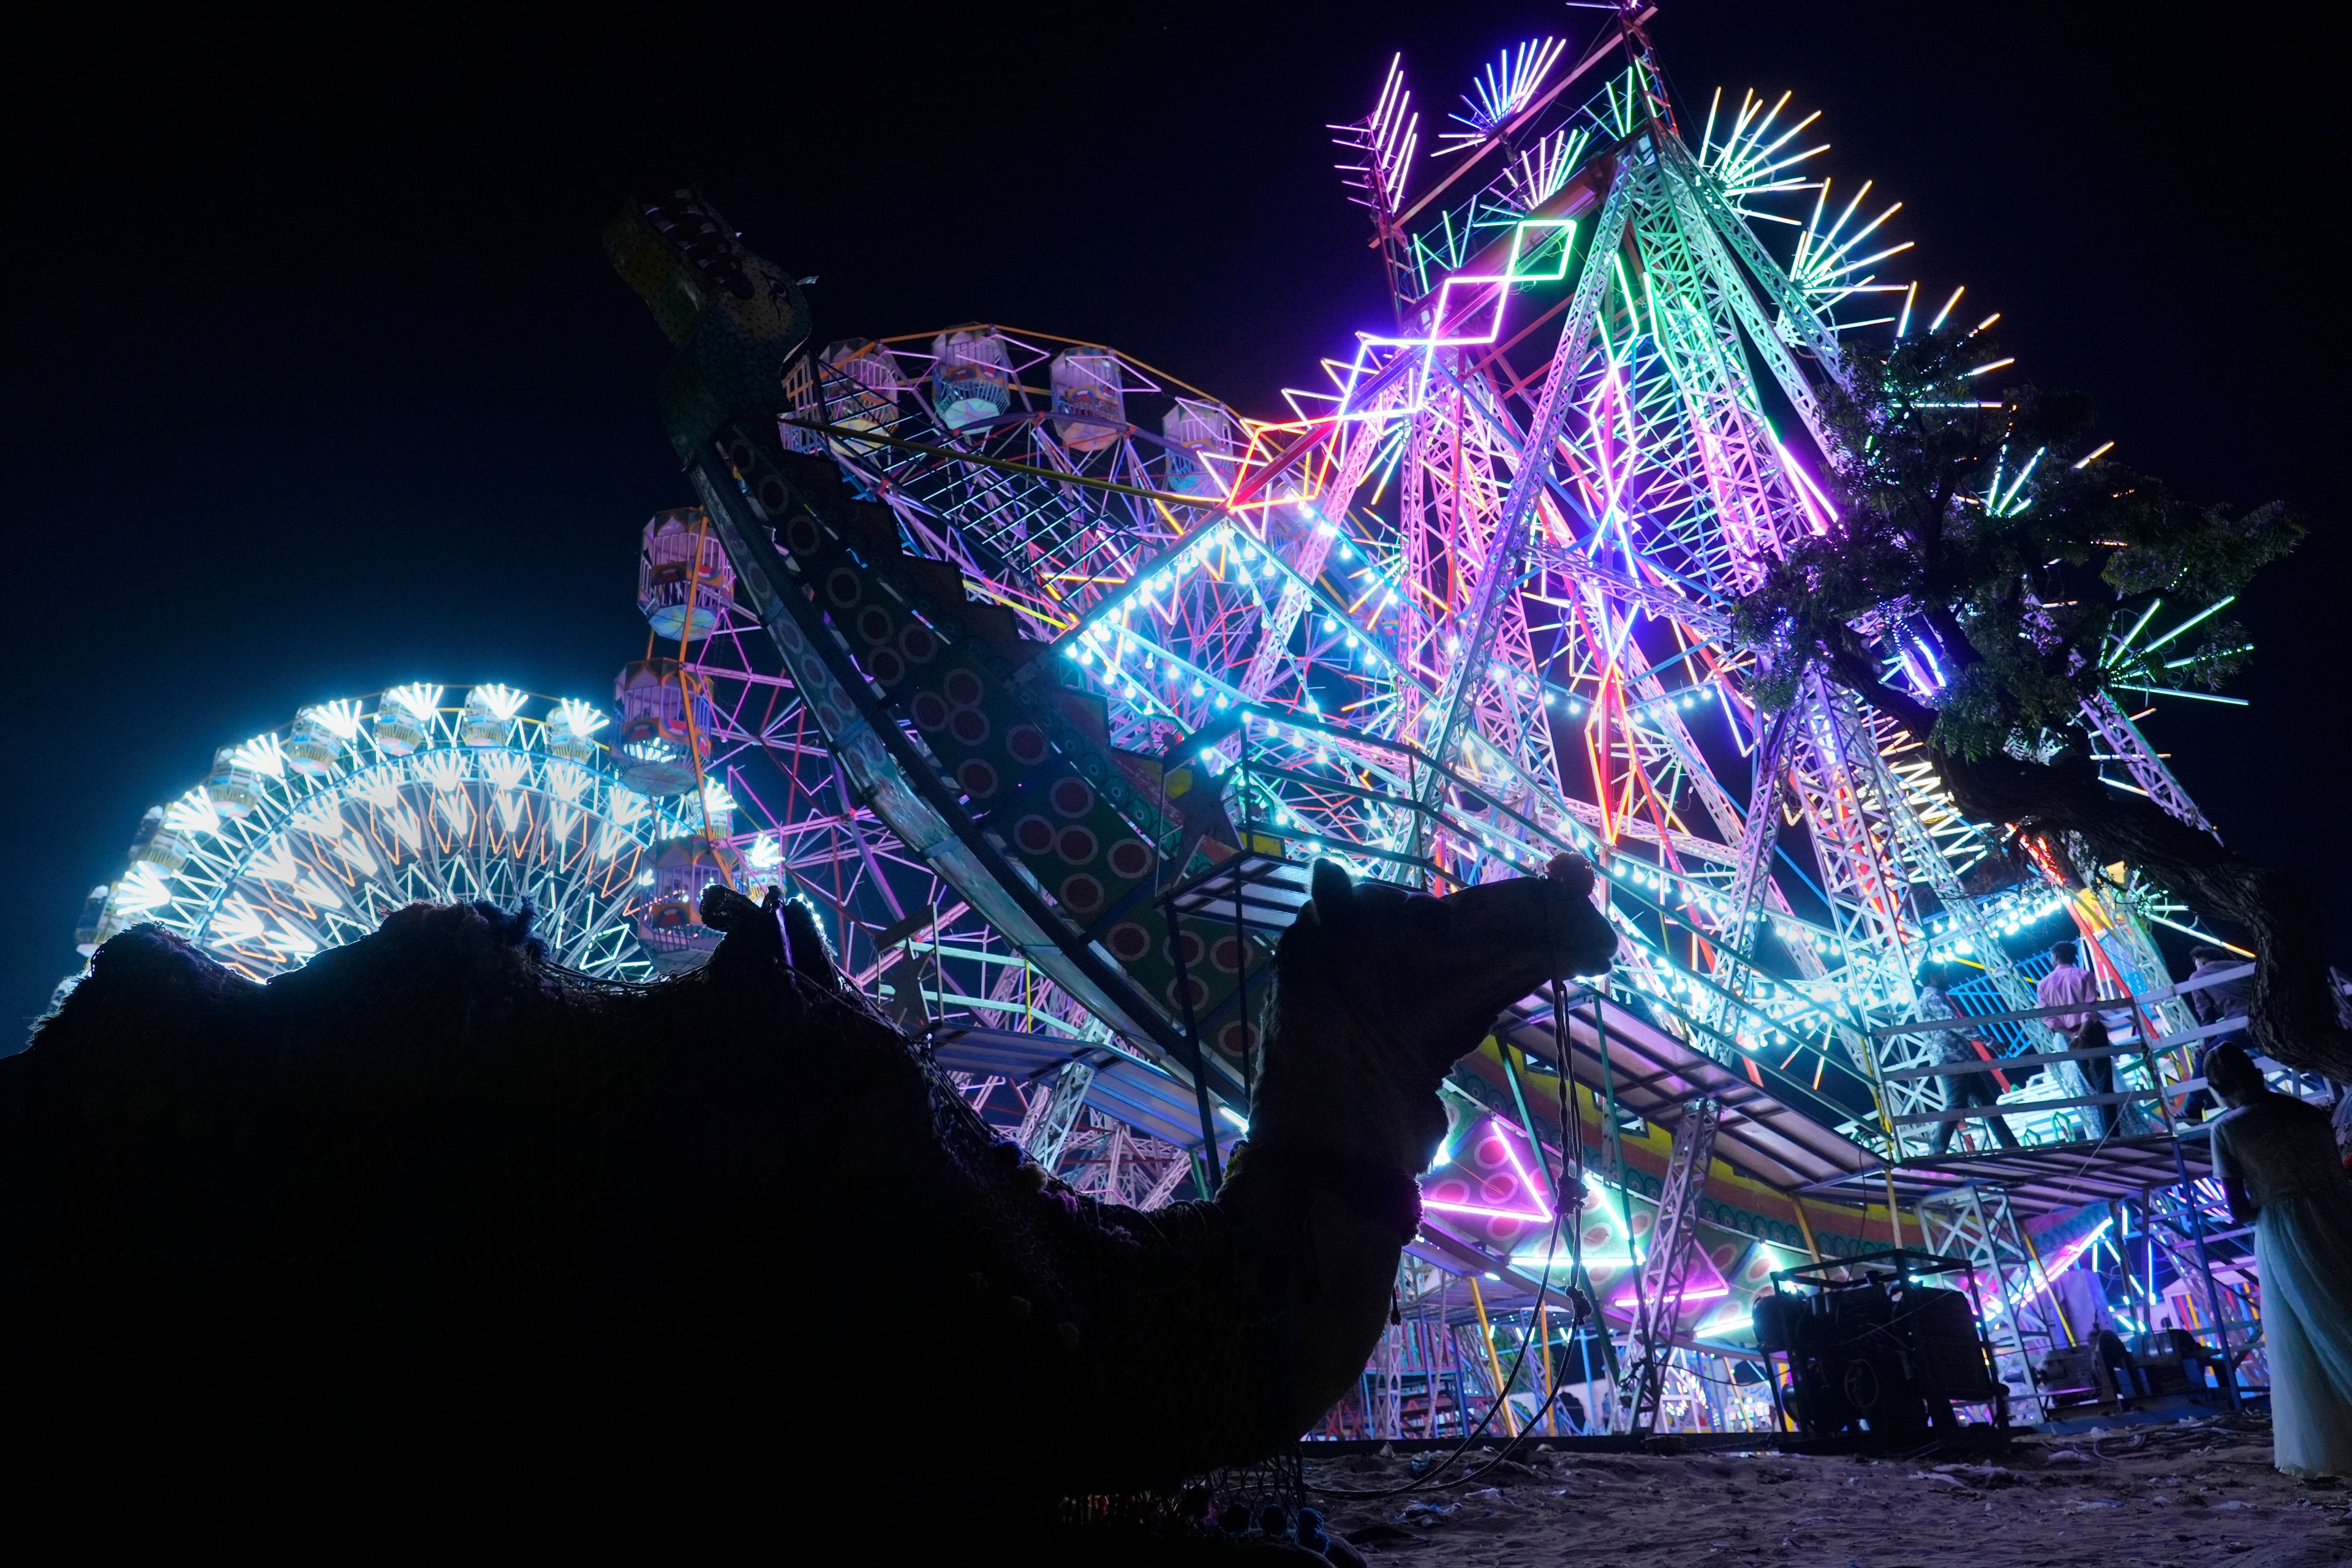
[[89, 954], [151, 922], [266, 980], [402, 905], [489, 900], [529, 903], [550, 957], [590, 976], [694, 961], [675, 933], [717, 877], [710, 842], [724, 842], [731, 802], [635, 788], [642, 762], [614, 752], [607, 726], [597, 705], [496, 684], [303, 708], [148, 809], [122, 875], [92, 891], [78, 945]]

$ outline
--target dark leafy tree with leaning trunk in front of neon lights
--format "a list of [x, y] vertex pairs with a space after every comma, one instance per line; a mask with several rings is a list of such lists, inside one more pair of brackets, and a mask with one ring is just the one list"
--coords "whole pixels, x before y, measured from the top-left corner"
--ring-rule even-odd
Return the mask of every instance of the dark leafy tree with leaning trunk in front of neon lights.
[[[1853, 357], [1832, 393], [1837, 520], [1771, 562], [1740, 602], [1757, 696], [1818, 668], [1922, 736], [1959, 806], [2129, 860], [2258, 952], [2253, 1032], [2284, 1063], [2352, 1079], [2317, 905], [2298, 879], [2227, 853], [2143, 795], [2100, 783], [2086, 703], [2216, 691], [2251, 654], [2227, 614], [2288, 555], [2279, 503], [2199, 505], [2096, 451], [2077, 393], [1994, 390], [1973, 331]], [[1907, 654], [1907, 661], [1905, 661]]]

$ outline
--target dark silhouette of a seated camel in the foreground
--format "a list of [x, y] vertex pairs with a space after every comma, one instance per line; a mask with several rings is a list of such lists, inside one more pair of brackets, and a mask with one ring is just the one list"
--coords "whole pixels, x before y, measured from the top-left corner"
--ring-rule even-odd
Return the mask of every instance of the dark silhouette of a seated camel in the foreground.
[[983, 1126], [800, 905], [713, 896], [710, 961], [642, 987], [480, 905], [268, 985], [141, 926], [0, 1060], [0, 1399], [240, 1455], [661, 1434], [962, 1509], [1263, 1460], [1381, 1333], [1444, 1072], [1606, 966], [1590, 886], [1319, 863], [1251, 1138], [1152, 1213]]

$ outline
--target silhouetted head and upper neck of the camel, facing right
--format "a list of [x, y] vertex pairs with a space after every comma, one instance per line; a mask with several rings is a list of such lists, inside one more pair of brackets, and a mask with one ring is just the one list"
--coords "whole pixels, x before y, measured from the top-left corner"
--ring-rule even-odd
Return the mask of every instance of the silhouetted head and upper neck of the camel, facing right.
[[1444, 1135], [1437, 1084], [1496, 1016], [1555, 976], [1609, 969], [1592, 867], [1432, 898], [1315, 863], [1315, 898], [1275, 952], [1254, 1138], [1376, 1154], [1418, 1171]]

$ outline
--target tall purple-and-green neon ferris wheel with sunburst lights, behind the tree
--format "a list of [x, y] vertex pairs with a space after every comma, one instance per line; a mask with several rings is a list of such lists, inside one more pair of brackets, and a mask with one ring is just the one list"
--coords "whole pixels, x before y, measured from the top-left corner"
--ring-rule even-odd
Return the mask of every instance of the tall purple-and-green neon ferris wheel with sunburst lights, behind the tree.
[[[1849, 376], [1842, 341], [1910, 327], [1917, 284], [1875, 270], [1907, 249], [1879, 233], [1896, 207], [1870, 216], [1867, 183], [1839, 205], [1830, 179], [1806, 179], [1823, 148], [1797, 141], [1811, 120], [1783, 120], [1785, 96], [1726, 108], [1717, 94], [1693, 150], [1637, 31], [1548, 80], [1557, 59], [1552, 45], [1505, 54], [1456, 115], [1463, 162], [1411, 205], [1397, 68], [1374, 115], [1343, 129], [1406, 327], [1364, 334], [1331, 393], [1298, 397], [1312, 416], [1296, 440], [1385, 440], [1374, 473], [1392, 510], [1376, 491], [1357, 520], [1378, 576], [1402, 588], [1390, 646], [1416, 679], [1395, 684], [1397, 733], [1517, 816], [1491, 839], [1456, 835], [1442, 870], [1529, 863], [1512, 839], [1585, 846], [1559, 832], [1564, 809], [1602, 842], [1623, 966], [1661, 1023], [1757, 1081], [1811, 1056], [1818, 1088], [1842, 1056], [1872, 1079], [1875, 1143], [1915, 1150], [1926, 1128], [1907, 1117], [1940, 1091], [1879, 1072], [1933, 1056], [1933, 1037], [1872, 1051], [1865, 1030], [1912, 1016], [1929, 954], [1983, 969], [1978, 1011], [2030, 1006], [2002, 938], [2063, 900], [1969, 896], [1962, 875], [1992, 835], [1955, 811], [1917, 738], [1818, 675], [1788, 710], [1757, 712], [1752, 654], [1724, 637], [1764, 559], [1828, 527], [1809, 468], [1837, 458], [1820, 407]], [[1604, 66], [1564, 113], [1571, 82]], [[1479, 160], [1489, 183], [1442, 207]], [[1771, 223], [1792, 230], [1778, 256]], [[1978, 503], [2030, 505], [2030, 468]], [[1870, 630], [1893, 679], [1933, 696], [1926, 646], [1898, 621]], [[2201, 825], [2112, 703], [2084, 726]], [[1418, 799], [1435, 792], [1425, 776]], [[1430, 818], [1421, 830], [1446, 837]], [[2034, 851], [2051, 884], [2072, 882]], [[2110, 990], [2150, 990], [2164, 971], [2136, 910], [2105, 889], [2074, 903]], [[2169, 1034], [2185, 1018], [2147, 1023]], [[2051, 1077], [2082, 1093], [2072, 1067]]]

